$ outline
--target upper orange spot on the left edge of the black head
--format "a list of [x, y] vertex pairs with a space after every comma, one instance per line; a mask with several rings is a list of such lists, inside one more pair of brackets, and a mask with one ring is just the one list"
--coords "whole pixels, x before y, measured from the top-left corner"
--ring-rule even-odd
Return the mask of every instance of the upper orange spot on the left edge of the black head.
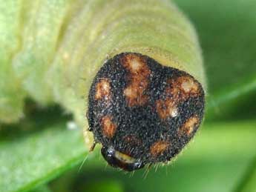
[[111, 98], [111, 84], [108, 79], [101, 79], [96, 84], [96, 93], [95, 99], [106, 99], [109, 100]]

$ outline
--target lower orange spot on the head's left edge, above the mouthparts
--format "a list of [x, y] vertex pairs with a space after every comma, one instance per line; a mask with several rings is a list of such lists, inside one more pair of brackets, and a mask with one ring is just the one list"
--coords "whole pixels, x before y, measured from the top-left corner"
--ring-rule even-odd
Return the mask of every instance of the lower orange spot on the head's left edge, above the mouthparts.
[[114, 134], [116, 133], [116, 124], [112, 121], [111, 116], [104, 116], [102, 118], [101, 124], [102, 124], [102, 133], [104, 136], [111, 139]]

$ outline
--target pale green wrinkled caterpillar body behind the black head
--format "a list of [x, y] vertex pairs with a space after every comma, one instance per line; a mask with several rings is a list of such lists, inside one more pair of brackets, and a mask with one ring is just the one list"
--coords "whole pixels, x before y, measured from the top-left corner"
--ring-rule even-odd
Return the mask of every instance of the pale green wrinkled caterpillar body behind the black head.
[[0, 122], [19, 120], [29, 96], [86, 127], [91, 82], [122, 52], [185, 70], [206, 89], [194, 27], [170, 1], [0, 0], [0, 10]]

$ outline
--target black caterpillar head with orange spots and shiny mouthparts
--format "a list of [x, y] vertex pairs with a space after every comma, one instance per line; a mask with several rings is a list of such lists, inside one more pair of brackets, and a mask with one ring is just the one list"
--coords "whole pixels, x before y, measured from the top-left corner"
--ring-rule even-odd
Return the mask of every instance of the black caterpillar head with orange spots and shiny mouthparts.
[[120, 53], [96, 74], [88, 121], [109, 165], [134, 171], [168, 162], [203, 119], [203, 87], [188, 73], [140, 53]]

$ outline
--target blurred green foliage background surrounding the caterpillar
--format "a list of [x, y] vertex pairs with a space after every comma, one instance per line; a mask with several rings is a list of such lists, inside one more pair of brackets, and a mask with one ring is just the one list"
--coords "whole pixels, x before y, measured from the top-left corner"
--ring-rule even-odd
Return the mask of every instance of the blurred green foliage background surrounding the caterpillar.
[[197, 28], [209, 81], [206, 118], [186, 150], [147, 176], [117, 171], [98, 149], [88, 154], [71, 116], [27, 101], [26, 119], [0, 127], [1, 192], [256, 191], [256, 0], [176, 2]]

